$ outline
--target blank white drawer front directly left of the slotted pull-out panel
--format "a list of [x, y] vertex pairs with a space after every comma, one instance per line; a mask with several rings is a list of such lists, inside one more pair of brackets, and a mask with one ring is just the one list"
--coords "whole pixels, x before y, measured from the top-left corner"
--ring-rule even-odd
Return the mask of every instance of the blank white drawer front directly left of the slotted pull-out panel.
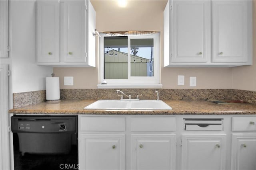
[[132, 117], [131, 131], [176, 131], [175, 117]]

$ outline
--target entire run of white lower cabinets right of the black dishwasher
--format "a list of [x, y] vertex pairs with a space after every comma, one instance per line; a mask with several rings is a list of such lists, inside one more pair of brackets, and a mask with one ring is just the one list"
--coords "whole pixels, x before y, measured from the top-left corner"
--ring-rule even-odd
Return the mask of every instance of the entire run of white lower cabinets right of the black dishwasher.
[[80, 170], [255, 170], [256, 115], [78, 115]]

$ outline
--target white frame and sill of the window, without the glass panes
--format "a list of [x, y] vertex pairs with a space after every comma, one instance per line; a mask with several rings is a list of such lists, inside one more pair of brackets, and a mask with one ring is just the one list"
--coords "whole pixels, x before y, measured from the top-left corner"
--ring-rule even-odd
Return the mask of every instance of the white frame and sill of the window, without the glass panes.
[[[101, 34], [99, 39], [100, 54], [98, 88], [162, 88], [162, 84], [160, 84], [160, 33], [154, 33], [151, 35], [125, 35], [125, 37], [128, 37], [128, 79], [104, 79], [104, 37], [113, 36]], [[154, 76], [130, 75], [130, 39], [154, 39]]]

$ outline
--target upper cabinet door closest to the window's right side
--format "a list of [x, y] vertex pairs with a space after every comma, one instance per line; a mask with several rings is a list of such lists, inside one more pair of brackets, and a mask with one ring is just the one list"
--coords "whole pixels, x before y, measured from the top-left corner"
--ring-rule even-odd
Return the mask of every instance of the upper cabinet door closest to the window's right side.
[[210, 24], [210, 1], [173, 1], [171, 62], [206, 62]]

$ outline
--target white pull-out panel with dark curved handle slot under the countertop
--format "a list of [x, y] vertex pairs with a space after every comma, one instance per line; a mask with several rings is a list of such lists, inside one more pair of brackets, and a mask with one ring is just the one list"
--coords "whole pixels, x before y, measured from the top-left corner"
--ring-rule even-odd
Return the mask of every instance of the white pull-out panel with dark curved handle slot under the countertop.
[[223, 119], [183, 119], [185, 131], [223, 131]]

